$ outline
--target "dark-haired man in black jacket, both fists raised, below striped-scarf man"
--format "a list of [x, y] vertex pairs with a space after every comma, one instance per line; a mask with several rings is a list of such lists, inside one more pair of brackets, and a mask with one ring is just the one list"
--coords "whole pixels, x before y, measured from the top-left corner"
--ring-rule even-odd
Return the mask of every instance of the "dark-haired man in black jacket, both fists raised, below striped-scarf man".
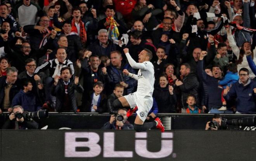
[[75, 90], [83, 93], [83, 87], [78, 83], [79, 78], [72, 79], [71, 69], [64, 67], [61, 69], [61, 76], [54, 77], [52, 95], [56, 96], [56, 112], [76, 112]]

